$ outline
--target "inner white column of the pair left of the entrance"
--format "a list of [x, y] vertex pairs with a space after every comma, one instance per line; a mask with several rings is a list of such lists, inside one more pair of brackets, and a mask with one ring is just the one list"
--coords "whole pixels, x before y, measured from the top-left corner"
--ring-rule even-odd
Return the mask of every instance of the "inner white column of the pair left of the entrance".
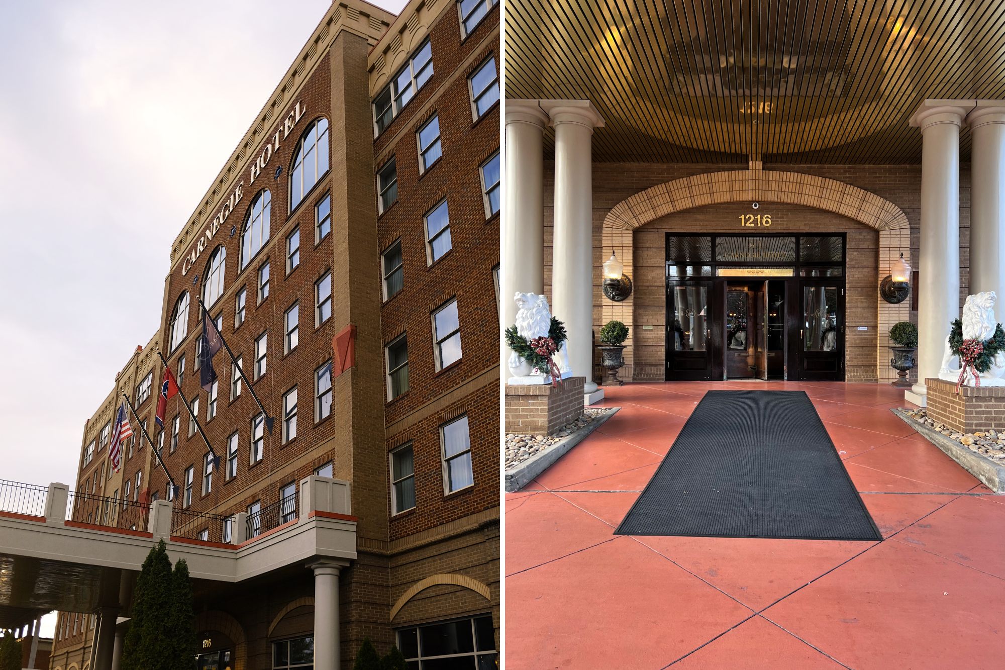
[[589, 101], [543, 101], [555, 127], [552, 312], [565, 323], [574, 375], [593, 381], [593, 164], [591, 136], [603, 120]]

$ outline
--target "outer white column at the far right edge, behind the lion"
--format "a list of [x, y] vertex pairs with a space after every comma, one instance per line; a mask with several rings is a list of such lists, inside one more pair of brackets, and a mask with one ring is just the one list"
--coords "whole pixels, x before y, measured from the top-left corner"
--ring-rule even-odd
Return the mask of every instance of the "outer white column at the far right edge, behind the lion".
[[970, 290], [1005, 306], [1005, 101], [977, 101], [967, 115], [970, 158]]

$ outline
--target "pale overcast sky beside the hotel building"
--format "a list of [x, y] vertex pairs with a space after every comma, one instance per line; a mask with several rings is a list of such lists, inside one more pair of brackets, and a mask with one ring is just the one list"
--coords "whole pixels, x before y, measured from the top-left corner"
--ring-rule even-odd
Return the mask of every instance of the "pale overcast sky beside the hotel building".
[[330, 4], [0, 0], [0, 479], [75, 482], [171, 242]]

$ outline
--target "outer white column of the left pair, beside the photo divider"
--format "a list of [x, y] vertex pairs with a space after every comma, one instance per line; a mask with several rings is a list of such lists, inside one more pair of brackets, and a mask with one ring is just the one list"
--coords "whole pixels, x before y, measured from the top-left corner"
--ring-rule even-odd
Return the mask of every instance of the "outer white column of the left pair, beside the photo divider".
[[[521, 293], [545, 292], [544, 132], [548, 115], [536, 100], [506, 102], [506, 174], [499, 231], [499, 318], [502, 328], [517, 321]], [[501, 343], [501, 377], [510, 377], [510, 348]]]

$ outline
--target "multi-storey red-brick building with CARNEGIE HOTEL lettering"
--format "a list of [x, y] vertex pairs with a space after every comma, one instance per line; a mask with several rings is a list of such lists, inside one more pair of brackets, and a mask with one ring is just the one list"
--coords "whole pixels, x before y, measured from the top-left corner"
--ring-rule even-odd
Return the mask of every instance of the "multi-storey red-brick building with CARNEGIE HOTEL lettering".
[[[349, 554], [248, 578], [194, 569], [200, 668], [321, 668], [340, 652], [349, 667], [364, 637], [410, 667], [495, 667], [498, 11], [332, 4], [177, 236], [158, 333], [85, 426], [67, 524], [156, 538], [170, 501], [169, 552], [238, 561], [283, 541], [300, 555], [292, 533], [323, 518], [355, 524]], [[246, 377], [220, 350], [208, 392], [199, 299]], [[164, 431], [158, 352], [181, 388]], [[122, 392], [168, 473], [132, 415], [122, 470], [109, 465]], [[323, 486], [345, 504], [305, 509]], [[122, 574], [112, 667], [135, 579]], [[90, 667], [91, 615], [59, 613], [51, 668]]]

